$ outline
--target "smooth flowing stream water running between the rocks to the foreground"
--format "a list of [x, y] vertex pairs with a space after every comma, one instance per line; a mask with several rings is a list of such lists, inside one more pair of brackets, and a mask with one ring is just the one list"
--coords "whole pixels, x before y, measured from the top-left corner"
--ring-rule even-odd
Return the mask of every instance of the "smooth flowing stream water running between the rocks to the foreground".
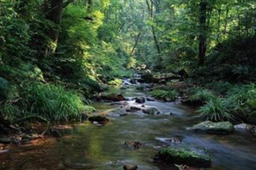
[[[128, 89], [110, 88], [110, 91], [121, 92], [130, 99], [147, 95], [132, 86]], [[132, 100], [128, 103], [142, 105]], [[63, 138], [60, 140], [48, 138], [23, 146], [10, 146], [10, 152], [0, 155], [0, 169], [122, 170], [123, 165], [132, 163], [138, 165], [139, 170], [161, 170], [153, 162], [153, 157], [165, 144], [156, 138], [178, 136], [181, 142], [172, 145], [207, 152], [213, 161], [211, 170], [256, 170], [255, 136], [247, 132], [214, 135], [186, 131], [187, 127], [200, 122], [193, 108], [177, 103], [146, 101], [143, 104], [146, 107], [155, 107], [166, 114], [138, 112], [117, 116], [111, 114], [111, 109], [120, 106], [103, 102], [92, 105], [99, 112], [105, 111], [110, 118], [108, 124], [98, 127], [85, 121], [74, 128], [61, 130]], [[125, 146], [125, 141], [139, 141], [143, 146], [134, 149]]]

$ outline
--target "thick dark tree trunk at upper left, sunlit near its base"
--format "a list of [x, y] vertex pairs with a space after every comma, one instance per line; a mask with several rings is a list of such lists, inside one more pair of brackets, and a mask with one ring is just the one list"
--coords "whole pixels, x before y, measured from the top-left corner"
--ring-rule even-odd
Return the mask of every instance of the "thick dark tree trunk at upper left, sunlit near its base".
[[52, 55], [56, 50], [64, 5], [65, 5], [64, 0], [45, 0], [44, 1], [45, 18], [54, 23], [53, 29], [47, 30], [47, 34], [49, 35], [51, 42], [47, 43], [46, 45], [47, 46], [45, 49], [46, 55]]

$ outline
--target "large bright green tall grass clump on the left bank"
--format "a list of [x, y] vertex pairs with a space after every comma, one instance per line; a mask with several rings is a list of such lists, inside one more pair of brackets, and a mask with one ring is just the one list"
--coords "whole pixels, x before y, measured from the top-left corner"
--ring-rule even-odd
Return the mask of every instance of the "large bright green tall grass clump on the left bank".
[[79, 119], [81, 113], [94, 111], [84, 104], [82, 96], [75, 90], [65, 90], [63, 86], [31, 83], [23, 92], [26, 110], [51, 121]]

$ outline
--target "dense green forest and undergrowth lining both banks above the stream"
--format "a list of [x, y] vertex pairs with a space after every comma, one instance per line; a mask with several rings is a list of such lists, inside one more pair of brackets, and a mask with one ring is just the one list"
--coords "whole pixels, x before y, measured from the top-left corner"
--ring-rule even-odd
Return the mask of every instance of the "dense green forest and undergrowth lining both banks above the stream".
[[255, 123], [255, 55], [255, 0], [0, 0], [0, 116], [79, 119], [146, 64], [183, 73], [207, 119]]

